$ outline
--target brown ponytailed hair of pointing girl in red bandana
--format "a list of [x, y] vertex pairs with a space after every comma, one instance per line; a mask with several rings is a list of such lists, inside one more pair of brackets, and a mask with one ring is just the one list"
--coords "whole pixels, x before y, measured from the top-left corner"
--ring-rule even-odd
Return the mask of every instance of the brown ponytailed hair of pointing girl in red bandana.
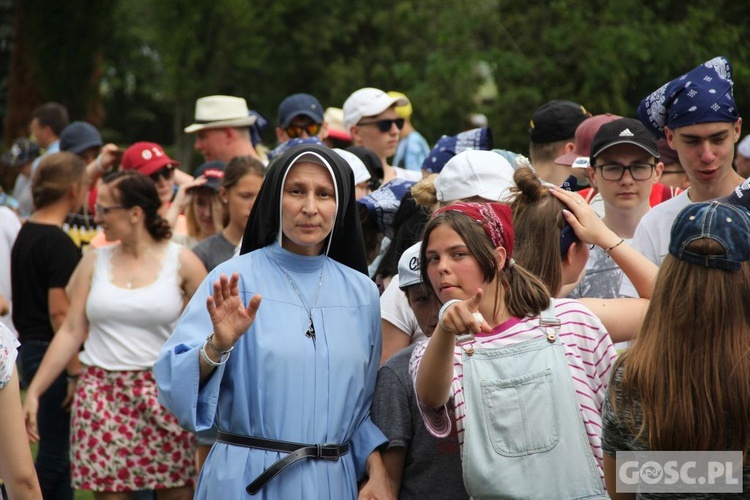
[[[550, 294], [544, 283], [518, 263], [501, 269], [497, 265], [495, 248], [487, 233], [484, 232], [482, 226], [462, 213], [448, 211], [430, 219], [422, 237], [422, 246], [419, 250], [420, 262], [427, 262], [427, 242], [430, 240], [430, 234], [442, 224], [448, 225], [461, 236], [469, 253], [477, 259], [485, 281], [495, 282], [495, 296], [504, 297], [505, 307], [510, 314], [519, 318], [536, 316], [549, 306]], [[420, 273], [422, 281], [428, 285], [431, 293], [437, 295], [427, 275], [426, 265], [421, 266]], [[503, 292], [500, 290], [501, 287]], [[498, 300], [492, 312], [493, 316], [497, 316], [499, 310]]]

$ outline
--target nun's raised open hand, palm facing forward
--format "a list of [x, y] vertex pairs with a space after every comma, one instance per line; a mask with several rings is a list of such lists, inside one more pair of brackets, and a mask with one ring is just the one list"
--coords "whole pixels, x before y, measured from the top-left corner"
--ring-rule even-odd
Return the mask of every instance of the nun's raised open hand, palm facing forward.
[[214, 283], [214, 293], [206, 299], [206, 309], [214, 327], [213, 344], [219, 351], [228, 351], [255, 321], [261, 296], [255, 294], [247, 304], [242, 303], [240, 277], [222, 274]]

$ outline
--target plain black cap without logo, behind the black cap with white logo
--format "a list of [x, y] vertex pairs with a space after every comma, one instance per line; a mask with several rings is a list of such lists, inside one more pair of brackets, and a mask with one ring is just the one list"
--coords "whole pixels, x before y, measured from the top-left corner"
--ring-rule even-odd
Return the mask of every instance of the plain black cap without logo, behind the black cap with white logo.
[[572, 101], [550, 101], [534, 111], [529, 136], [535, 144], [572, 139], [583, 120], [591, 116], [586, 108]]

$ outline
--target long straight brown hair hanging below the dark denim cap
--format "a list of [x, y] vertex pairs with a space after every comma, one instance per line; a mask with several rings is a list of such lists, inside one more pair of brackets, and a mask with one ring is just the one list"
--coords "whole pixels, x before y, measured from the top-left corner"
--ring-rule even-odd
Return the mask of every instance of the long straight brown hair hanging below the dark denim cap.
[[[691, 242], [700, 255], [725, 250]], [[707, 268], [667, 255], [643, 326], [618, 360], [622, 405], [636, 439], [654, 451], [742, 450], [750, 446], [750, 263], [738, 271]], [[612, 388], [610, 388], [612, 390]], [[611, 394], [615, 403], [614, 394]], [[643, 419], [636, 429], [634, 405]], [[626, 410], [630, 419], [624, 418]]]

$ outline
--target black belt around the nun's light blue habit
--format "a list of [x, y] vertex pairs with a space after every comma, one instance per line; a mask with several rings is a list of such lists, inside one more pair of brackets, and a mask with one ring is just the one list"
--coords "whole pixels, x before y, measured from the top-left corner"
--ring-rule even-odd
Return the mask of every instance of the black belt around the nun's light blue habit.
[[275, 462], [268, 469], [264, 470], [253, 482], [247, 485], [247, 492], [251, 495], [258, 493], [268, 481], [276, 477], [281, 471], [305, 458], [313, 460], [332, 460], [336, 461], [339, 457], [349, 453], [349, 443], [344, 444], [303, 444], [291, 443], [289, 441], [276, 441], [273, 439], [264, 439], [251, 436], [241, 436], [229, 432], [219, 431], [216, 440], [221, 443], [232, 444], [235, 446], [244, 446], [246, 448], [257, 448], [267, 451], [278, 451], [289, 453], [281, 460]]

